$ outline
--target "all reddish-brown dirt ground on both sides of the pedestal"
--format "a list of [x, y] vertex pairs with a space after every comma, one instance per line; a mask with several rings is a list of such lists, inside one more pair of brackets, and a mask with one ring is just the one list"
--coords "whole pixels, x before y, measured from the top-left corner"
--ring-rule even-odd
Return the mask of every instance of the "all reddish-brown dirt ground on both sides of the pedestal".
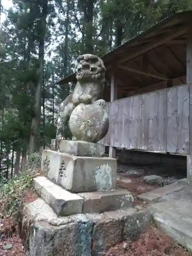
[[[159, 185], [148, 185], [144, 183], [144, 175], [149, 175], [151, 167], [136, 167], [119, 165], [117, 187], [129, 190], [135, 199], [135, 205], [144, 206], [145, 202], [137, 199], [137, 196], [151, 191]], [[153, 170], [152, 170], [153, 171]], [[153, 173], [153, 172], [152, 172]], [[175, 179], [175, 178], [174, 178]], [[174, 181], [174, 180], [173, 180]], [[32, 191], [26, 193], [26, 203], [34, 201], [38, 196]], [[5, 246], [11, 247], [6, 250]], [[5, 217], [0, 220], [0, 256], [27, 256], [28, 253], [18, 236], [18, 224], [12, 218]], [[137, 242], [125, 241], [108, 252], [105, 256], [189, 256], [182, 247], [174, 244], [167, 236], [151, 227], [143, 233]]]

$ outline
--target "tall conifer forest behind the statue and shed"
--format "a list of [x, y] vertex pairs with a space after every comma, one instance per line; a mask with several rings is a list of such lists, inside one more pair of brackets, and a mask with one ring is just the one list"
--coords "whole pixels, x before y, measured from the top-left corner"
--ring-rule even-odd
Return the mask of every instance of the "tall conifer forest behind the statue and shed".
[[[0, 179], [49, 145], [59, 103], [73, 90], [54, 82], [79, 54], [98, 56], [192, 0], [0, 0]], [[6, 1], [6, 0], [4, 0]], [[5, 2], [6, 3], [6, 2]]]

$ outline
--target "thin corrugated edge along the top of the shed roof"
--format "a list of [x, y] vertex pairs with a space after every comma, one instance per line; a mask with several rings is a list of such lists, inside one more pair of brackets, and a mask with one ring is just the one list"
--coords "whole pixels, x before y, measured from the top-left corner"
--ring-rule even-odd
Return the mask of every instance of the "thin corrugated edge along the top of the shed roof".
[[[154, 30], [156, 30], [159, 26], [165, 25], [167, 22], [172, 21], [172, 19], [177, 18], [179, 16], [185, 16], [187, 14], [187, 16], [192, 17], [192, 11], [184, 11], [184, 12], [178, 12], [178, 13], [174, 13], [171, 15], [168, 15], [167, 17], [161, 19], [159, 22], [157, 22], [155, 25], [147, 28], [146, 30], [144, 30], [143, 32], [140, 32], [138, 35], [130, 38], [129, 40], [127, 40], [126, 42], [124, 42], [123, 45], [120, 45], [116, 48], [114, 48], [112, 51], [105, 53], [104, 55], [101, 56], [101, 58], [103, 59], [105, 56], [109, 56], [110, 54], [113, 54], [115, 51], [117, 51], [119, 48], [121, 47], [125, 47], [127, 44], [129, 44], [131, 41], [133, 42], [134, 40], [140, 38], [141, 36], [145, 36], [148, 33], [153, 32]], [[190, 14], [190, 15], [189, 15]], [[62, 79], [59, 79], [58, 81], [56, 81], [55, 83], [52, 84], [52, 86], [54, 86], [55, 84], [59, 84], [61, 83], [63, 80], [75, 80], [75, 73], [67, 76], [67, 77], [63, 77]], [[66, 81], [67, 83], [67, 81]], [[61, 83], [62, 84], [62, 83]]]

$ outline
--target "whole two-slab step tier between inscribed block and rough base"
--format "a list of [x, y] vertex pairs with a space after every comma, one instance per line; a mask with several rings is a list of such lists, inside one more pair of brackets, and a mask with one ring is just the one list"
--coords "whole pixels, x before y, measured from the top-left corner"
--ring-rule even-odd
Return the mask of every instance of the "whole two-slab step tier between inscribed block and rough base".
[[46, 177], [36, 177], [34, 187], [58, 216], [127, 209], [134, 204], [132, 194], [126, 189], [74, 194]]

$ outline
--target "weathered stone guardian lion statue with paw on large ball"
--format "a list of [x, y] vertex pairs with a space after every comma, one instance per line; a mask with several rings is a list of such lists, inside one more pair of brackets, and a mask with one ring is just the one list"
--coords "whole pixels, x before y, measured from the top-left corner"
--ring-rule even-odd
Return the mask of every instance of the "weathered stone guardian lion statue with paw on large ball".
[[109, 129], [106, 102], [101, 97], [105, 67], [101, 58], [84, 54], [76, 62], [77, 83], [74, 92], [59, 106], [56, 140], [66, 139], [69, 122], [73, 140], [97, 142]]

